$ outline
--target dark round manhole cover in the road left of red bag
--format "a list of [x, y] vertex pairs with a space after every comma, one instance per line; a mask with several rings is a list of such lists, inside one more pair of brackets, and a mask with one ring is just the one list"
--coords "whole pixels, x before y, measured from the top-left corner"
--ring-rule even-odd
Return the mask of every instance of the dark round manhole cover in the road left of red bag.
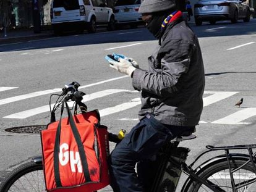
[[5, 131], [11, 132], [11, 133], [40, 133], [41, 130], [45, 130], [45, 129], [46, 129], [46, 125], [30, 125], [30, 126], [6, 128]]

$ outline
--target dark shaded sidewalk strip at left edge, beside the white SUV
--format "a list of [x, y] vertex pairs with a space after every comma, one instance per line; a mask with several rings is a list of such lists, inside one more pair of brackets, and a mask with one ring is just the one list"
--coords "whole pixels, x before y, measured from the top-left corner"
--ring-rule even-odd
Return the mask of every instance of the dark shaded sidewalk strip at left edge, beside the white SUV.
[[17, 40], [35, 39], [42, 36], [53, 36], [52, 30], [41, 30], [41, 33], [34, 33], [33, 28], [30, 30], [17, 29], [9, 30], [4, 33], [4, 30], [0, 31], [0, 44], [12, 43]]

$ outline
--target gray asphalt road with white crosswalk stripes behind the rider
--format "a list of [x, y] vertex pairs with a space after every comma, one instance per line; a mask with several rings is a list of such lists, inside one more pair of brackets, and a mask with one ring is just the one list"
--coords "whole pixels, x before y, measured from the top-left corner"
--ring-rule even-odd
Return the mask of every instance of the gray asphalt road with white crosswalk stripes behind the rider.
[[[191, 149], [187, 162], [207, 144], [256, 143], [256, 20], [191, 27], [200, 41], [206, 86], [197, 139], [181, 143]], [[80, 83], [88, 94], [88, 109], [99, 109], [101, 123], [110, 131], [129, 131], [138, 122], [140, 94], [129, 77], [109, 68], [105, 55], [121, 53], [147, 69], [147, 57], [157, 43], [140, 27], [1, 44], [0, 181], [14, 165], [41, 153], [39, 134], [6, 128], [49, 123], [49, 96], [66, 83]], [[242, 106], [234, 106], [241, 98]]]

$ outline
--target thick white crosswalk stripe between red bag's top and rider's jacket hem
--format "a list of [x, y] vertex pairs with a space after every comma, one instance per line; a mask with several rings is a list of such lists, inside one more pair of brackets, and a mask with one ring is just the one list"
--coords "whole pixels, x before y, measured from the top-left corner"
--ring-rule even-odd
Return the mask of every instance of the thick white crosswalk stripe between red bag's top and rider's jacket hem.
[[141, 104], [140, 98], [135, 98], [135, 99], [132, 99], [129, 102], [124, 102], [124, 103], [119, 104], [117, 106], [108, 107], [106, 109], [100, 110], [100, 116], [104, 117], [106, 115], [111, 115], [111, 114], [114, 114], [116, 112], [125, 111], [127, 109], [132, 108], [132, 107], [139, 106], [140, 104]]

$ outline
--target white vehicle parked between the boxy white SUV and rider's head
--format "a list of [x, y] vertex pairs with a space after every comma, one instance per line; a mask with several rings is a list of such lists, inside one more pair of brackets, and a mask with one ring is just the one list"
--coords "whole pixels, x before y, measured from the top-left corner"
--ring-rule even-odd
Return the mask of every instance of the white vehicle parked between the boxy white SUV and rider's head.
[[143, 23], [142, 15], [138, 12], [139, 7], [140, 0], [117, 0], [113, 9], [116, 24], [130, 25], [135, 28]]

